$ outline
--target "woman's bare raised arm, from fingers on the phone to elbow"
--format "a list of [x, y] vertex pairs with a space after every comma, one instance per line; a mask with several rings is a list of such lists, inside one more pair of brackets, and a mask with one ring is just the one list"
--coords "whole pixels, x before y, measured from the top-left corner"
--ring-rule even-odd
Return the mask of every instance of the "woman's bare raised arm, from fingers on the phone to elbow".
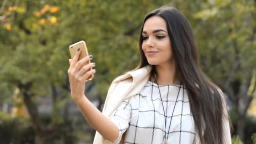
[[115, 123], [104, 116], [84, 94], [85, 83], [88, 78], [96, 72], [94, 63], [89, 63], [83, 66], [92, 59], [92, 56], [87, 56], [80, 61], [80, 51], [77, 51], [73, 59], [69, 59], [70, 67], [68, 69], [69, 83], [72, 99], [80, 108], [88, 123], [98, 131], [108, 141], [115, 141], [119, 136], [119, 130]]

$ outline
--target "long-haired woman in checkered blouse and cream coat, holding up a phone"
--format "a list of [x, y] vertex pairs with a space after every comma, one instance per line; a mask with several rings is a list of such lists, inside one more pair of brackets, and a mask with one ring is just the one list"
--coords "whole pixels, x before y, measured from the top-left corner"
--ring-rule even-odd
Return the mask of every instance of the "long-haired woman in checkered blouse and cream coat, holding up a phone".
[[72, 98], [96, 129], [93, 144], [231, 144], [221, 90], [200, 71], [189, 23], [177, 9], [163, 7], [145, 16], [139, 66], [117, 77], [103, 112], [84, 94], [95, 64], [70, 60]]

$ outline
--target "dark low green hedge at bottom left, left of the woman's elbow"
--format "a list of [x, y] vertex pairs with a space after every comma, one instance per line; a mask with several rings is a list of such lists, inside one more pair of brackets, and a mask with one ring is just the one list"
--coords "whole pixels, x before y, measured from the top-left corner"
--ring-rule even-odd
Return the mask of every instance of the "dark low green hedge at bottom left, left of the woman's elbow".
[[[41, 120], [45, 125], [52, 122], [51, 115], [42, 115]], [[47, 141], [52, 143], [56, 140], [63, 140], [66, 144], [75, 143], [77, 136], [75, 136], [71, 125], [71, 120], [63, 118], [61, 122], [54, 126], [56, 131], [47, 137]], [[35, 131], [30, 119], [27, 117], [13, 117], [0, 112], [0, 143], [35, 143]]]

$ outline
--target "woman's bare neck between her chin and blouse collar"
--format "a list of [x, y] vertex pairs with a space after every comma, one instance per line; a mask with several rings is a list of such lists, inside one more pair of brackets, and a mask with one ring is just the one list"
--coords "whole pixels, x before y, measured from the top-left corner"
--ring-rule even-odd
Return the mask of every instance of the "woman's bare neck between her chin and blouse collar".
[[[180, 85], [179, 76], [177, 74], [175, 62], [173, 61], [172, 64], [161, 64], [155, 65], [155, 70], [157, 76], [157, 83], [158, 85]], [[154, 77], [151, 77], [152, 81], [155, 81]]]

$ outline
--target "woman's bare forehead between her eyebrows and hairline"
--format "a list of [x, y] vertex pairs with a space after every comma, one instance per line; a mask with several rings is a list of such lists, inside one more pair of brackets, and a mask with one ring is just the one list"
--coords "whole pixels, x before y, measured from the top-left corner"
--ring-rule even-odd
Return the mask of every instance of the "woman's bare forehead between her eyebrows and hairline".
[[161, 18], [160, 16], [152, 16], [147, 21], [145, 21], [143, 26], [143, 31], [150, 32], [155, 29], [163, 29], [167, 31], [165, 19]]

